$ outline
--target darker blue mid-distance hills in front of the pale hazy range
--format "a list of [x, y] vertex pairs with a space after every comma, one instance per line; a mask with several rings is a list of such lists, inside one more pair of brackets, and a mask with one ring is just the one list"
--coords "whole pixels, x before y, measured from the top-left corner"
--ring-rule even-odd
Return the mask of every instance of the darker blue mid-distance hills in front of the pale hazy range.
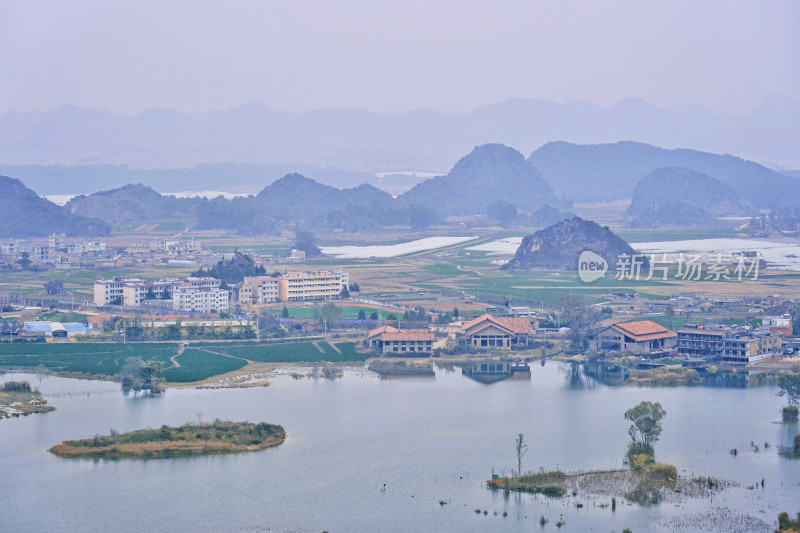
[[[22, 194], [19, 186], [9, 188], [7, 202]], [[211, 186], [221, 187], [221, 182]], [[25, 191], [25, 198], [35, 196]], [[395, 225], [419, 230], [448, 215], [487, 214], [498, 205], [502, 212], [508, 207], [517, 213], [507, 223], [546, 225], [568, 215], [571, 200], [631, 197], [629, 215], [637, 225], [710, 225], [719, 215], [800, 206], [800, 179], [730, 155], [633, 142], [548, 143], [527, 160], [513, 148], [486, 144], [462, 157], [448, 174], [396, 197], [370, 184], [342, 189], [292, 173], [262, 186], [256, 195], [232, 200], [175, 198], [145, 184], [127, 184], [73, 198], [63, 212], [110, 224], [178, 219], [198, 229], [255, 235], [280, 231], [286, 223], [344, 231]]]

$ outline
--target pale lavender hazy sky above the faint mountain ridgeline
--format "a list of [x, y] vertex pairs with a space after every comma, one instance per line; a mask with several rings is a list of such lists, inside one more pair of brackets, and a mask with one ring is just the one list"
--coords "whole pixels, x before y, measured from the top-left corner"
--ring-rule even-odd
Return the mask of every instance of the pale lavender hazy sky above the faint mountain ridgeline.
[[0, 113], [800, 100], [800, 1], [0, 0]]

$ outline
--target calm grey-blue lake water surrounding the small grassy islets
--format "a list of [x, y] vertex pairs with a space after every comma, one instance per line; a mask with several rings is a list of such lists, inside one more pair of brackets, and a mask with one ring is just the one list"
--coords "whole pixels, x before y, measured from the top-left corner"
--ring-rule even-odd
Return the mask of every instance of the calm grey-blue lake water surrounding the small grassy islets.
[[[20, 379], [6, 374], [0, 382], [12, 377]], [[770, 531], [779, 512], [800, 511], [800, 461], [776, 451], [799, 429], [775, 423], [783, 399], [774, 385], [608, 387], [557, 363], [532, 366], [529, 381], [491, 385], [459, 369], [393, 380], [352, 369], [336, 380], [271, 382], [135, 397], [114, 383], [45, 379], [42, 391], [56, 411], [0, 421], [0, 531], [670, 531], [681, 517], [712, 507], [747, 513]], [[485, 488], [492, 469], [515, 467], [518, 433], [529, 444], [525, 470], [621, 466], [623, 413], [642, 400], [667, 411], [660, 461], [741, 486], [711, 502], [620, 504], [616, 512], [595, 507], [602, 498], [549, 500]], [[110, 428], [198, 418], [276, 423], [288, 435], [277, 448], [228, 456], [111, 461], [47, 453]], [[772, 446], [764, 450], [764, 442]], [[543, 528], [542, 515], [549, 520]], [[694, 530], [703, 529], [680, 529]]]

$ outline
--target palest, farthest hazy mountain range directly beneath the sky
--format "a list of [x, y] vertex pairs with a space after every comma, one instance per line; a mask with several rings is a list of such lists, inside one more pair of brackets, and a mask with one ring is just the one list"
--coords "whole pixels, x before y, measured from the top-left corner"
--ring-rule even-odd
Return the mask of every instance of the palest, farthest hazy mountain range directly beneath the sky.
[[[207, 114], [156, 108], [130, 117], [62, 106], [49, 112], [0, 116], [0, 171], [24, 178], [48, 194], [59, 192], [53, 189], [56, 183], [43, 183], [42, 187], [30, 181], [34, 177], [31, 169], [21, 174], [9, 166], [129, 165], [133, 176], [106, 184], [142, 182], [157, 186], [160, 192], [174, 192], [187, 188], [177, 183], [180, 172], [169, 175], [175, 180], [170, 183], [156, 175], [141, 175], [136, 169], [202, 165], [194, 177], [215, 180], [224, 167], [214, 165], [236, 162], [257, 168], [236, 168], [234, 178], [237, 174], [244, 178], [255, 170], [262, 174], [263, 184], [267, 178], [274, 180], [295, 171], [344, 187], [364, 181], [353, 183], [352, 173], [441, 172], [473, 146], [487, 142], [527, 152], [554, 139], [580, 144], [634, 139], [669, 148], [690, 146], [794, 170], [800, 168], [796, 148], [800, 146], [800, 102], [773, 95], [742, 116], [716, 114], [685, 103], [660, 109], [637, 99], [609, 108], [587, 102], [510, 99], [467, 115], [427, 109], [400, 114], [363, 109], [285, 113], [253, 103]], [[110, 169], [114, 172], [109, 167], [104, 172], [110, 175], [120, 170]], [[320, 173], [311, 172], [313, 169]], [[547, 177], [545, 169], [539, 170]], [[243, 179], [234, 182], [240, 181]], [[90, 192], [97, 183], [63, 192]], [[195, 184], [188, 188], [210, 188], [201, 181]]]

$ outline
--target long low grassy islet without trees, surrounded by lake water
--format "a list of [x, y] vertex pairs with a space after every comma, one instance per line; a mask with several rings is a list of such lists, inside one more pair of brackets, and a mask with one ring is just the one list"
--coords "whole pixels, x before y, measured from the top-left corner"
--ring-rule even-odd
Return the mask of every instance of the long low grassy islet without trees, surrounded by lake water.
[[286, 431], [273, 424], [186, 423], [178, 427], [140, 429], [68, 440], [50, 448], [59, 457], [157, 458], [212, 453], [254, 452], [283, 444]]

